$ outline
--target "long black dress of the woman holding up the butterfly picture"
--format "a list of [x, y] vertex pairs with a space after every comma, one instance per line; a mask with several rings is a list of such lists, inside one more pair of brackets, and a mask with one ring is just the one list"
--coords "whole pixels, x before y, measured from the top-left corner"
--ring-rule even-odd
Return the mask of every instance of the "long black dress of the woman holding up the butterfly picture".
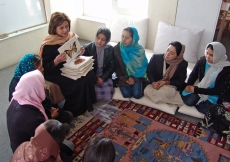
[[81, 115], [87, 110], [93, 110], [96, 102], [95, 73], [90, 71], [86, 76], [73, 80], [61, 75], [63, 63], [54, 66], [54, 59], [59, 54], [60, 45], [45, 45], [42, 53], [45, 79], [56, 83], [65, 96], [64, 109], [71, 111], [74, 116]]

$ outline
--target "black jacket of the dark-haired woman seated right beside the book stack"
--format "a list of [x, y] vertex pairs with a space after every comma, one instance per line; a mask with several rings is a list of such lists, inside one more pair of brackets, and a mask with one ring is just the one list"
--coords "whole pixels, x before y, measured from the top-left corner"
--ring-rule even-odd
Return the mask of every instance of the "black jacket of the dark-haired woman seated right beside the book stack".
[[[97, 52], [96, 52], [96, 46], [94, 42], [88, 43], [84, 45], [85, 53], [84, 56], [93, 56], [94, 59], [94, 72], [96, 74], [97, 72]], [[103, 81], [107, 81], [109, 78], [112, 78], [112, 74], [115, 71], [116, 64], [114, 60], [114, 54], [113, 54], [113, 47], [110, 46], [109, 48], [106, 48], [104, 51], [104, 60], [103, 60], [103, 74], [101, 78]]]

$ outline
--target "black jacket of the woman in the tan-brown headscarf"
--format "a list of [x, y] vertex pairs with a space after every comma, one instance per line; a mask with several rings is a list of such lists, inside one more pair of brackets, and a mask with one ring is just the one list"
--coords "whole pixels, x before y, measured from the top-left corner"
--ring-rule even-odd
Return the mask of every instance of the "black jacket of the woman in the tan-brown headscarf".
[[[147, 76], [150, 84], [163, 79], [164, 54], [154, 54], [147, 68]], [[184, 88], [184, 81], [187, 75], [188, 62], [183, 60], [178, 64], [174, 75], [170, 79], [170, 85], [176, 86], [180, 91]]]

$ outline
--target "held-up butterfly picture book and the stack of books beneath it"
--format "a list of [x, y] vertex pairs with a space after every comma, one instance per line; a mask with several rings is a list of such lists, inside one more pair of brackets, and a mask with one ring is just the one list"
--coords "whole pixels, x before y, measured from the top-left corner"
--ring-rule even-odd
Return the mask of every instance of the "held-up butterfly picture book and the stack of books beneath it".
[[92, 57], [79, 56], [80, 47], [77, 36], [74, 36], [58, 49], [60, 53], [66, 53], [66, 63], [61, 68], [63, 76], [77, 80], [93, 69], [94, 60]]

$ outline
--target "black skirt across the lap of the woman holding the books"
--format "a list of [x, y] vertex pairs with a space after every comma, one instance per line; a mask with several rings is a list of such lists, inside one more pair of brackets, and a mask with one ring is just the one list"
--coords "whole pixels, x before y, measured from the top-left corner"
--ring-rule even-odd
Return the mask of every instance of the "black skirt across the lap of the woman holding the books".
[[46, 76], [45, 79], [59, 85], [66, 99], [64, 109], [71, 111], [74, 116], [84, 114], [87, 110], [93, 110], [92, 104], [96, 102], [95, 74], [93, 71], [77, 80], [62, 75], [50, 75]]

